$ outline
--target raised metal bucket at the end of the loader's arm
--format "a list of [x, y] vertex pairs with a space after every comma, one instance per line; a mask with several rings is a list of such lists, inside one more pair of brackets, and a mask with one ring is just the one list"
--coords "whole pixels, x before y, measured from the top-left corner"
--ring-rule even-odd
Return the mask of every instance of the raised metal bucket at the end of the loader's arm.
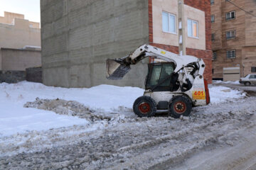
[[107, 79], [122, 79], [131, 67], [122, 62], [117, 62], [117, 60], [108, 59], [107, 60]]

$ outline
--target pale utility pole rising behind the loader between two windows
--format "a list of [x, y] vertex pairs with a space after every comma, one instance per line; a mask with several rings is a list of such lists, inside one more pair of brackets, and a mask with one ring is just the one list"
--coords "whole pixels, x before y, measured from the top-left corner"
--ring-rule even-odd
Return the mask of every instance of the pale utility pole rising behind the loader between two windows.
[[186, 55], [184, 0], [178, 0], [178, 52]]

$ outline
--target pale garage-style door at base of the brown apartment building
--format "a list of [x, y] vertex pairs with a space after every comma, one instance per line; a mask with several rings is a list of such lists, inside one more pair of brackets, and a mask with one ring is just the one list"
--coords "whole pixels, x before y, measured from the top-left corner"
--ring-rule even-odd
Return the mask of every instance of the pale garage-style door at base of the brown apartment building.
[[240, 79], [240, 67], [223, 68], [223, 81], [238, 81]]

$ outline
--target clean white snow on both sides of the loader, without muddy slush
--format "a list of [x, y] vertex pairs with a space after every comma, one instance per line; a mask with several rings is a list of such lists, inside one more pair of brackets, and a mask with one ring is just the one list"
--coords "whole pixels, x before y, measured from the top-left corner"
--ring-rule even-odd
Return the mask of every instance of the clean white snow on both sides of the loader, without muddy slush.
[[[242, 91], [223, 86], [212, 86], [209, 90], [211, 103], [220, 103], [245, 96]], [[135, 87], [110, 85], [100, 85], [90, 89], [65, 89], [27, 81], [18, 84], [2, 83], [0, 84], [0, 137], [31, 130], [49, 130], [72, 125], [88, 125], [90, 127], [90, 120], [87, 119], [23, 107], [25, 103], [33, 102], [36, 98], [78, 101], [94, 114], [113, 115], [116, 113], [115, 118], [120, 119], [134, 115], [132, 104], [136, 98], [143, 95], [143, 92], [143, 89]], [[91, 126], [92, 129], [95, 129], [95, 126], [97, 127], [97, 125]], [[102, 123], [99, 124], [100, 126]]]

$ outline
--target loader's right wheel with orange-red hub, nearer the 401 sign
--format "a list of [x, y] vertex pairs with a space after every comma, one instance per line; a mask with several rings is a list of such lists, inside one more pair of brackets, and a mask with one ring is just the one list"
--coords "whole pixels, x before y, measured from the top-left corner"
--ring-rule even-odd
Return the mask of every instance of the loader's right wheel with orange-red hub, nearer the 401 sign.
[[192, 103], [186, 96], [175, 96], [169, 103], [169, 115], [180, 118], [181, 115], [188, 116], [191, 113]]

